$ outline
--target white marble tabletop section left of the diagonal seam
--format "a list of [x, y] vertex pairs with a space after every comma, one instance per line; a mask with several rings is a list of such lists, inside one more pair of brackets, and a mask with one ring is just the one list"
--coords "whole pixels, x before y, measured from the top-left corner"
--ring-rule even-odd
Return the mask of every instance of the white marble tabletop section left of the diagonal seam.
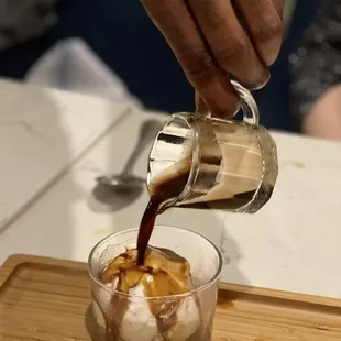
[[0, 230], [129, 110], [0, 79]]

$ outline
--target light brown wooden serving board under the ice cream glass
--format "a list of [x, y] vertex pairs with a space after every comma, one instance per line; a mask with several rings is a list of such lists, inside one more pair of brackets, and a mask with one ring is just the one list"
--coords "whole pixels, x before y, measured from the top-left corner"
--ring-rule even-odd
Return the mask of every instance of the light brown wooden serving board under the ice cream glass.
[[[1, 341], [91, 340], [87, 265], [13, 255], [0, 268]], [[213, 341], [340, 341], [341, 300], [221, 284]]]

